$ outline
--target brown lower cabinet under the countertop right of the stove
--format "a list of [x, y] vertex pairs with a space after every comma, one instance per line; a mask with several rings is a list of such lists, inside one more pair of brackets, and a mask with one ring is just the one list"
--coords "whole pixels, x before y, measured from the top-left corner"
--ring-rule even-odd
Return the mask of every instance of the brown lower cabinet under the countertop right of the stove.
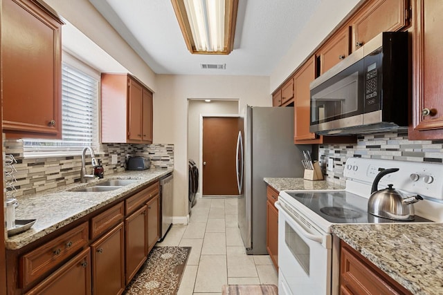
[[340, 294], [412, 295], [343, 240], [340, 247]]

